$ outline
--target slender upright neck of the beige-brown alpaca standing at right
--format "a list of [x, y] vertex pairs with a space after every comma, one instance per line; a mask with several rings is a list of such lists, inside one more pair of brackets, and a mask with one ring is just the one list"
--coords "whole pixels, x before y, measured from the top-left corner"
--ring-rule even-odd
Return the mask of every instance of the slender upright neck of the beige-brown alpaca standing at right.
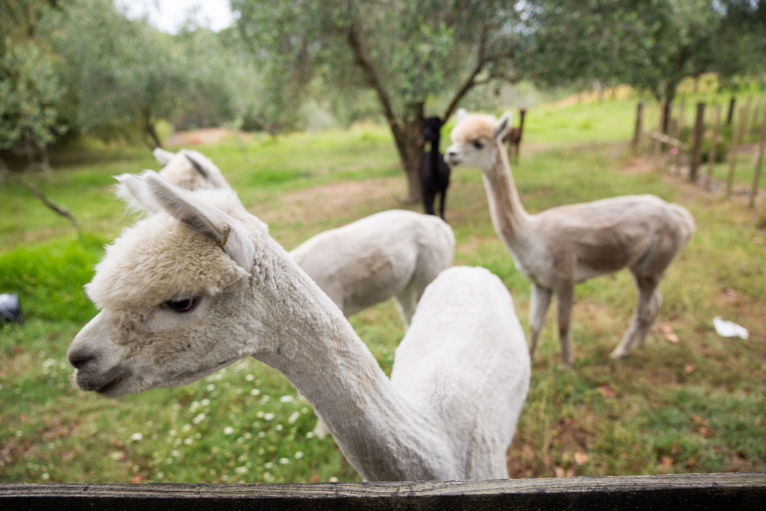
[[492, 165], [482, 169], [482, 179], [495, 231], [513, 254], [524, 251], [525, 243], [534, 236], [532, 218], [519, 198], [501, 142], [496, 142]]

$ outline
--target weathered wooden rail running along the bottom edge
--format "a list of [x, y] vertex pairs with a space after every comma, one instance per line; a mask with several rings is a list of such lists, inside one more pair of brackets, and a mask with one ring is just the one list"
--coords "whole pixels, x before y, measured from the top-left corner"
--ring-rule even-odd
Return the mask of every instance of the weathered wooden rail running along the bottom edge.
[[311, 484], [2, 483], [0, 509], [766, 509], [766, 473]]

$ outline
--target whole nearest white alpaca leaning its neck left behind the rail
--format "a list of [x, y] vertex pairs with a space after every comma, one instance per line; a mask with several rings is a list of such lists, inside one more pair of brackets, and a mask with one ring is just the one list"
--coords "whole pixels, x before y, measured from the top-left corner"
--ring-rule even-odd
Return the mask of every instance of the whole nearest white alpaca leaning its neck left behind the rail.
[[483, 268], [427, 288], [391, 380], [332, 303], [236, 195], [123, 175], [149, 210], [106, 249], [87, 285], [101, 311], [67, 358], [83, 390], [184, 385], [246, 356], [278, 369], [366, 480], [507, 477], [529, 388], [511, 296]]

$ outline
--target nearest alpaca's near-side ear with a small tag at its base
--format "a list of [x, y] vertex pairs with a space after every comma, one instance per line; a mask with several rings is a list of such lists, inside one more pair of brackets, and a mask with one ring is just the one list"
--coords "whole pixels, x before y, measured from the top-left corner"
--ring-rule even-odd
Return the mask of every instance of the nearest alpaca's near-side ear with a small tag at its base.
[[255, 247], [244, 225], [220, 209], [198, 200], [193, 193], [170, 184], [155, 172], [144, 172], [141, 178], [160, 207], [189, 228], [205, 234], [250, 273]]

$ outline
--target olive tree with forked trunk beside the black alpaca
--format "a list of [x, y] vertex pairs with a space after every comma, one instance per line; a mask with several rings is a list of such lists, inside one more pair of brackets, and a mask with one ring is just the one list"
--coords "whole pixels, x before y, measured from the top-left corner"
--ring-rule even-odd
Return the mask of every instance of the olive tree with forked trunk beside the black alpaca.
[[322, 74], [328, 85], [375, 92], [391, 129], [408, 199], [420, 197], [423, 120], [428, 103], [448, 98], [446, 120], [473, 87], [517, 80], [519, 11], [495, 0], [231, 0], [237, 28], [267, 70], [275, 96], [300, 103]]

